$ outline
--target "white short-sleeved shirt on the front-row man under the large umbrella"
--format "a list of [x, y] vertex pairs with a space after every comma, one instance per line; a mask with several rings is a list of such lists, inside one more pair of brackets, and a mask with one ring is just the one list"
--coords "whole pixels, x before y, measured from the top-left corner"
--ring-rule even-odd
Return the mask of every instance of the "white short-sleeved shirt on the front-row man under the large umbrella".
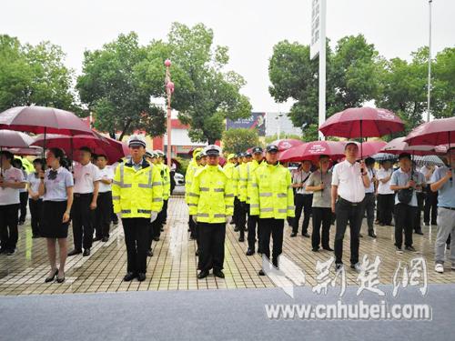
[[338, 186], [338, 195], [351, 203], [359, 203], [365, 197], [365, 186], [360, 164], [344, 160], [333, 167], [332, 185]]

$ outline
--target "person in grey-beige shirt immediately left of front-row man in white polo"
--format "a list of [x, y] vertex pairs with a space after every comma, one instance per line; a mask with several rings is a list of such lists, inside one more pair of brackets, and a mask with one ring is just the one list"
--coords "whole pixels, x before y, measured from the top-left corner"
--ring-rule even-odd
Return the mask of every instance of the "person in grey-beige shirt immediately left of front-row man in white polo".
[[331, 191], [329, 188], [332, 183], [332, 172], [329, 171], [329, 165], [329, 155], [319, 155], [319, 169], [311, 173], [305, 188], [308, 192], [316, 193], [313, 195], [312, 201], [313, 232], [311, 234], [311, 246], [314, 252], [319, 251], [321, 224], [322, 248], [327, 251], [333, 251], [329, 246], [329, 230], [332, 222]]

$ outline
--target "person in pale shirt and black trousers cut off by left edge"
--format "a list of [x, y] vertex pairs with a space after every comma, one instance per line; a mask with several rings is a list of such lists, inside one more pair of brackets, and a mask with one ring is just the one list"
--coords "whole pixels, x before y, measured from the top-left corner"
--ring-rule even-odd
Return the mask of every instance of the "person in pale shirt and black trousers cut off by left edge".
[[0, 152], [0, 253], [11, 256], [15, 253], [18, 239], [19, 189], [25, 188], [22, 170], [11, 165], [15, 156], [7, 151]]

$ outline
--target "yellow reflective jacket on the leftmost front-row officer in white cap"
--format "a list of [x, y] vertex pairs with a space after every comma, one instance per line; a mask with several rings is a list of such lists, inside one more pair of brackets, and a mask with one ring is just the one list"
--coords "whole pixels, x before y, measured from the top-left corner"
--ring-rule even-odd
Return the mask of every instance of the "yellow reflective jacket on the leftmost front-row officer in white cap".
[[163, 207], [163, 185], [159, 168], [145, 159], [139, 170], [131, 159], [116, 167], [112, 182], [114, 212], [122, 218], [149, 218]]

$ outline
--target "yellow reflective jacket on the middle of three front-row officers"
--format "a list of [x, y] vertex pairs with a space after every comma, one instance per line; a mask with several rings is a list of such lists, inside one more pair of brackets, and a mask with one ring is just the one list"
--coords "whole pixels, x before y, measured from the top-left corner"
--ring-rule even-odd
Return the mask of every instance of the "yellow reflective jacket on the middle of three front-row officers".
[[232, 181], [219, 165], [197, 169], [189, 192], [189, 215], [199, 223], [226, 223], [234, 213]]

